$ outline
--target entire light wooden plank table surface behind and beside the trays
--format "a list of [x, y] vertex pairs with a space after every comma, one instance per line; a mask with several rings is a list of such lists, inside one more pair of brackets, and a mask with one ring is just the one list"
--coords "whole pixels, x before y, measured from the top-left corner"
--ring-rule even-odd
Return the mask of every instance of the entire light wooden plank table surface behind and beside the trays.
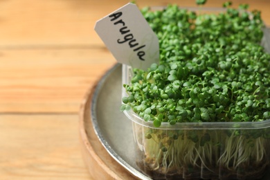
[[[91, 179], [80, 151], [80, 104], [116, 64], [93, 27], [128, 2], [0, 0], [0, 179]], [[233, 1], [240, 3], [261, 10], [270, 26], [270, 1]]]

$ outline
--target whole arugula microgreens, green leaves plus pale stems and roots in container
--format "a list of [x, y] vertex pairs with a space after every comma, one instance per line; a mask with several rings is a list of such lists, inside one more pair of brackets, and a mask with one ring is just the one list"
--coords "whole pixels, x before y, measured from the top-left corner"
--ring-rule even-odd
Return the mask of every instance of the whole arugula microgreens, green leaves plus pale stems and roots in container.
[[[240, 122], [270, 118], [270, 54], [260, 45], [264, 24], [259, 11], [246, 12], [248, 5], [223, 6], [218, 14], [175, 5], [142, 10], [159, 38], [160, 63], [148, 71], [132, 69], [120, 109], [132, 109], [156, 127], [135, 128], [144, 146], [138, 165], [152, 170], [154, 179], [199, 179], [201, 172], [204, 179], [255, 179], [269, 165], [269, 128], [237, 129]], [[235, 122], [235, 129], [159, 129], [164, 122]]]

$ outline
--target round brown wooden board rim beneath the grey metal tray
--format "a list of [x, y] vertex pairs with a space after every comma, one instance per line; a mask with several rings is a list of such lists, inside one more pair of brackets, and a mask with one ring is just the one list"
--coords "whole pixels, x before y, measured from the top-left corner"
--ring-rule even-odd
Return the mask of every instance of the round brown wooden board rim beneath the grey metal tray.
[[[116, 68], [119, 69], [114, 67], [114, 71]], [[95, 132], [91, 107], [97, 85], [98, 83], [89, 89], [80, 107], [80, 143], [84, 162], [93, 179], [138, 179], [109, 154]]]

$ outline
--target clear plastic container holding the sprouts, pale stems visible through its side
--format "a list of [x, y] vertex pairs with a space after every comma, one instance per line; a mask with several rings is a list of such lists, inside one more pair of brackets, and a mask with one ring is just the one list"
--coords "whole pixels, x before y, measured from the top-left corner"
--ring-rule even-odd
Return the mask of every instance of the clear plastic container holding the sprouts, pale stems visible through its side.
[[[269, 43], [264, 30], [262, 45], [270, 52]], [[123, 84], [131, 77], [131, 67], [123, 65]], [[270, 120], [156, 128], [132, 110], [124, 113], [132, 120], [136, 164], [152, 179], [260, 179], [268, 170]]]

